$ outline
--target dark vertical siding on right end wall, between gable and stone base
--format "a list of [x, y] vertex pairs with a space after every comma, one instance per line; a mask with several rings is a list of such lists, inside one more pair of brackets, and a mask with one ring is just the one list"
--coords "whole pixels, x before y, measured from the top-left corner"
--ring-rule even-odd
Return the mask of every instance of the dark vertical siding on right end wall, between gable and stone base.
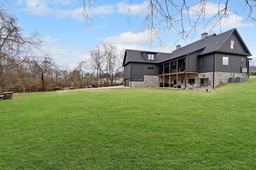
[[[222, 57], [228, 57], [228, 65], [223, 65]], [[247, 57], [244, 55], [216, 53], [215, 59], [215, 71], [217, 72], [241, 72], [241, 67], [246, 67], [247, 64]]]

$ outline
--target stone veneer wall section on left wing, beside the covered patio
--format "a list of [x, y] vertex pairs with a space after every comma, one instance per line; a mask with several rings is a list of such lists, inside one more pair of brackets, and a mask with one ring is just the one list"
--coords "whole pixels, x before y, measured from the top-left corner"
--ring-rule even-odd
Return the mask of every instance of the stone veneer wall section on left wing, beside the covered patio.
[[158, 87], [158, 76], [144, 76], [144, 81], [130, 82], [130, 87]]

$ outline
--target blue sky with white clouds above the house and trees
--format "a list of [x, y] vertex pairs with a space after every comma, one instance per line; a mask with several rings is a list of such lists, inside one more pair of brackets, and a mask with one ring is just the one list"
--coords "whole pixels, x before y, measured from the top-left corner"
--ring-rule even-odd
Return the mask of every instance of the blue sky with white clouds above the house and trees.
[[[9, 0], [7, 6], [18, 18], [18, 25], [24, 29], [24, 34], [38, 30], [47, 43], [47, 51], [57, 64], [75, 68], [79, 62], [90, 58], [89, 50], [101, 42], [112, 43], [119, 51], [133, 49], [171, 53], [176, 45], [185, 46], [200, 39], [206, 30], [198, 25], [196, 36], [185, 41], [178, 40], [177, 33], [159, 30], [162, 47], [156, 39], [150, 44], [148, 30], [140, 27], [141, 9], [146, 6], [145, 0], [132, 0], [130, 7], [132, 15], [128, 16], [130, 0], [97, 0], [93, 8], [87, 12], [93, 20], [90, 25], [80, 15], [83, 11], [82, 0]], [[191, 1], [193, 2], [193, 1]], [[193, 8], [193, 7], [191, 7]], [[210, 3], [208, 15], [216, 4]], [[129, 21], [128, 21], [129, 17]], [[207, 17], [207, 16], [206, 16]], [[213, 32], [219, 34], [236, 28], [252, 53], [250, 58], [256, 60], [256, 34], [254, 23], [242, 22], [244, 18], [237, 16], [221, 25]], [[254, 56], [255, 55], [255, 56]]]

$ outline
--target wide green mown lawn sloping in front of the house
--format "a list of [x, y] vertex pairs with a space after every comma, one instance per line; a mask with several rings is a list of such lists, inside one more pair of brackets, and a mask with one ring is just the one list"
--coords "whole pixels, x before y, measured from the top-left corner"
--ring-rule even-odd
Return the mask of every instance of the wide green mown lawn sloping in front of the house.
[[256, 169], [256, 76], [208, 93], [14, 94], [0, 101], [0, 169]]

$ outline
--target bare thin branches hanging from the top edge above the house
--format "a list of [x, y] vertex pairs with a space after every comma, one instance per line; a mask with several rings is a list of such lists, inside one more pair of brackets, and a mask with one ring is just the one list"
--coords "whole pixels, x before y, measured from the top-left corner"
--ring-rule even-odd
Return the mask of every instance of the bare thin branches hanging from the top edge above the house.
[[[82, 0], [84, 2], [83, 15], [91, 23], [92, 19], [86, 10], [91, 8], [96, 0]], [[93, 3], [92, 3], [93, 2]], [[128, 21], [131, 24], [133, 6], [130, 0], [127, 10]], [[256, 21], [255, 0], [146, 0], [146, 6], [141, 9], [141, 14], [136, 18], [142, 20], [140, 30], [149, 30], [150, 41], [158, 36], [160, 30], [172, 31], [178, 34], [180, 39], [196, 35], [196, 29], [200, 27], [206, 32], [218, 27], [221, 30], [222, 24], [229, 20], [238, 20], [242, 17], [243, 22]], [[158, 37], [160, 40], [160, 38]], [[162, 43], [162, 41], [160, 40]]]

